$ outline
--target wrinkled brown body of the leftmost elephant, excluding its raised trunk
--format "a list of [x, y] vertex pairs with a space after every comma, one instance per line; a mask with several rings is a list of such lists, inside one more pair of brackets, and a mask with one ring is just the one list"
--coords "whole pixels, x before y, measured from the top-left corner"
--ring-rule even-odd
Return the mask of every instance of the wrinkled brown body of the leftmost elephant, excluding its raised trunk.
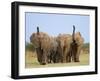
[[30, 37], [30, 42], [36, 48], [38, 62], [42, 65], [47, 64], [51, 48], [49, 35], [43, 32], [33, 33]]

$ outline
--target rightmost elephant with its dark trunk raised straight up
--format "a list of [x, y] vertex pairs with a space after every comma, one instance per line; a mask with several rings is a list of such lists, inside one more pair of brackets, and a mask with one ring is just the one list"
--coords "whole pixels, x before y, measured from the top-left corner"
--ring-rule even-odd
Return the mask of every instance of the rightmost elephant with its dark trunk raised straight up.
[[72, 58], [72, 61], [80, 62], [79, 56], [84, 43], [84, 38], [82, 37], [80, 32], [75, 33], [75, 26], [73, 26], [72, 41], [73, 42], [71, 43], [70, 46], [70, 52], [69, 52], [69, 56], [67, 57], [67, 61], [71, 62], [71, 58]]

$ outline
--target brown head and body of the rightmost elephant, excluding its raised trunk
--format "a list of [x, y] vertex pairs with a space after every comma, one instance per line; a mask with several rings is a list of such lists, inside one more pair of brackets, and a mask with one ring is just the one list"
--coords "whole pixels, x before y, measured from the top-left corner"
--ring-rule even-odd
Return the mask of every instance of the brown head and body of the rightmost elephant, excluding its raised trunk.
[[74, 62], [80, 62], [79, 60], [79, 56], [82, 50], [82, 46], [84, 43], [84, 39], [82, 37], [82, 35], [80, 34], [80, 32], [76, 32], [75, 33], [75, 43], [72, 44], [72, 60]]

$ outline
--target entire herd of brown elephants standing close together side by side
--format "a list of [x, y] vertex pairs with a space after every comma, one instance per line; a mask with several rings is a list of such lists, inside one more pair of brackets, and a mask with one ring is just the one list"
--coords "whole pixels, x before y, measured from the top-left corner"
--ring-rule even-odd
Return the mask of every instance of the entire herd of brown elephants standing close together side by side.
[[40, 32], [37, 27], [37, 32], [30, 36], [30, 42], [36, 49], [39, 64], [46, 65], [48, 63], [80, 62], [79, 56], [84, 39], [80, 32], [75, 33], [75, 26], [73, 26], [72, 35], [59, 34], [57, 37]]

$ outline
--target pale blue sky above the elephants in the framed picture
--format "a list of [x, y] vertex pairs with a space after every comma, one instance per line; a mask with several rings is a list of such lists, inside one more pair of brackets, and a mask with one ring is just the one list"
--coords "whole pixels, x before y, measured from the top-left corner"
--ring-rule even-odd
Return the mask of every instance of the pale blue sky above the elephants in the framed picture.
[[25, 36], [26, 42], [30, 42], [30, 36], [36, 32], [37, 26], [41, 32], [46, 32], [51, 36], [61, 34], [72, 34], [73, 25], [75, 32], [80, 32], [84, 42], [90, 41], [89, 35], [89, 15], [78, 14], [51, 14], [51, 13], [25, 13]]

